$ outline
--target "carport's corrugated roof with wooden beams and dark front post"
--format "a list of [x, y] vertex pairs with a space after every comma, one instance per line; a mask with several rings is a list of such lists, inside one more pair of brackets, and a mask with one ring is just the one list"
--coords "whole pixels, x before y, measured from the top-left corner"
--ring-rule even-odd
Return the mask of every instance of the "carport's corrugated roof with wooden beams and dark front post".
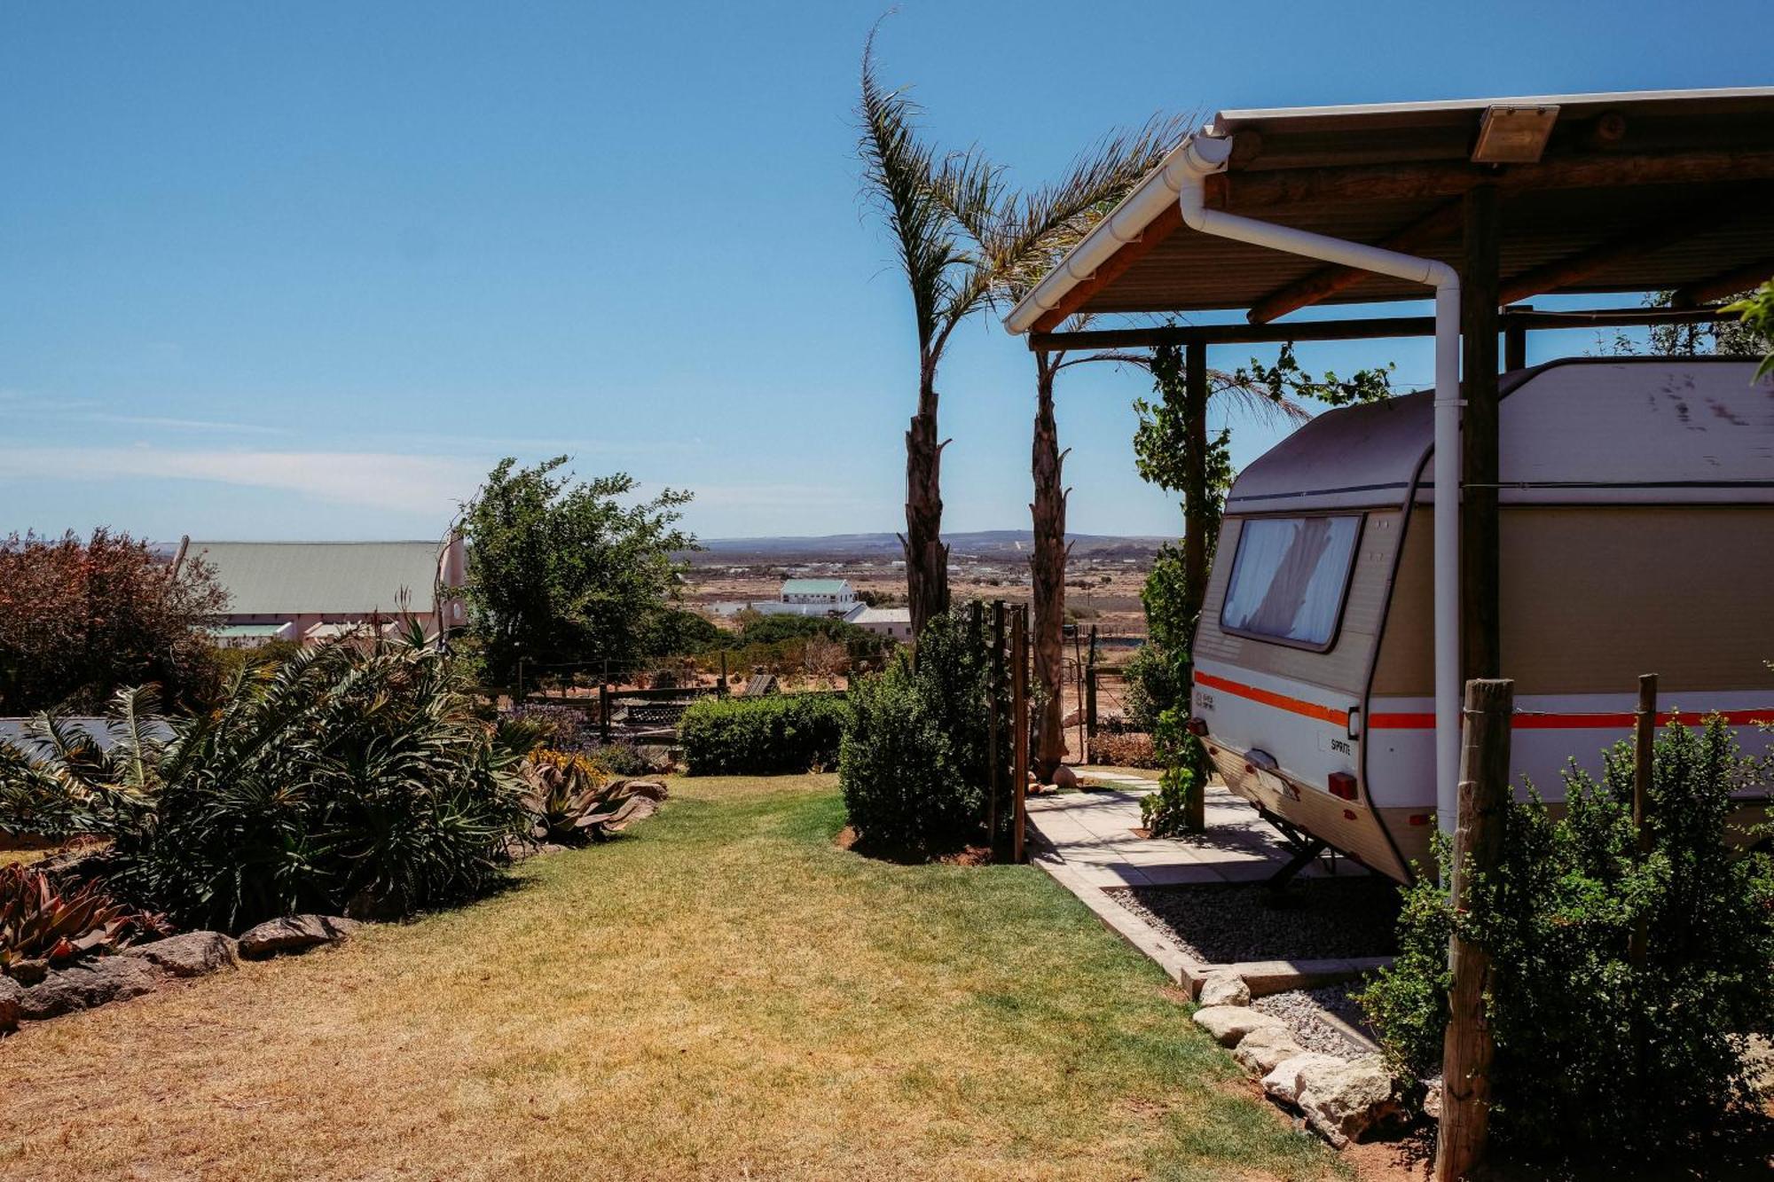
[[[1038, 351], [1183, 341], [1197, 405], [1210, 344], [1435, 330], [1421, 316], [1279, 321], [1316, 303], [1425, 300], [1426, 280], [1201, 232], [1203, 209], [1458, 275], [1458, 676], [1499, 676], [1499, 335], [1519, 367], [1531, 328], [1717, 319], [1717, 300], [1774, 275], [1774, 89], [1221, 112], [1006, 327]], [[1668, 312], [1508, 307], [1664, 289]], [[1073, 316], [1206, 311], [1247, 323], [1059, 332]]]

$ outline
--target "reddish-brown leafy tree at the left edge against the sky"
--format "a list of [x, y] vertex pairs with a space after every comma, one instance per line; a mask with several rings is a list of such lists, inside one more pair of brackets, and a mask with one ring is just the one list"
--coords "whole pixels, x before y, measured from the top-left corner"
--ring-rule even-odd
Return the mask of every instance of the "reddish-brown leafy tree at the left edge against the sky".
[[165, 563], [145, 541], [94, 529], [0, 543], [0, 712], [96, 710], [122, 685], [158, 683], [193, 706], [215, 689], [208, 628], [227, 609], [215, 570]]

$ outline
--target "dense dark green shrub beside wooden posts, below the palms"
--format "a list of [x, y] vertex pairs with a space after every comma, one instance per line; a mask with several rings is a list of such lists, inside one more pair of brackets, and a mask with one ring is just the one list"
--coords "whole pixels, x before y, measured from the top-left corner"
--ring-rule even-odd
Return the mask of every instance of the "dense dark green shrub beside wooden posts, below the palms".
[[937, 616], [915, 662], [898, 653], [850, 692], [839, 754], [844, 809], [871, 847], [928, 855], [985, 838], [990, 651], [960, 614]]

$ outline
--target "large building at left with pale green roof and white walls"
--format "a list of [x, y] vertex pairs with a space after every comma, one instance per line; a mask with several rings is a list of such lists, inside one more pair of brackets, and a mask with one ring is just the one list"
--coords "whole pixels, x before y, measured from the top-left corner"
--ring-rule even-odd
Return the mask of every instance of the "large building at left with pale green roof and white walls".
[[216, 644], [319, 644], [417, 621], [429, 639], [467, 623], [454, 595], [467, 580], [461, 538], [436, 541], [184, 541], [174, 563], [202, 559], [229, 595]]

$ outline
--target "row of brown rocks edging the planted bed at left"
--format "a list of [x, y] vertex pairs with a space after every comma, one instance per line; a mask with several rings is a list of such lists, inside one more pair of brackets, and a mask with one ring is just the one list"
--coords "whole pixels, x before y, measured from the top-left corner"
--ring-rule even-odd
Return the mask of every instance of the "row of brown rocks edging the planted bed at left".
[[239, 957], [270, 957], [337, 944], [360, 925], [337, 916], [287, 916], [245, 932], [239, 941], [222, 932], [181, 932], [124, 948], [66, 969], [55, 969], [28, 989], [0, 974], [0, 1033], [20, 1022], [44, 1022], [76, 1010], [140, 997], [174, 978], [232, 969]]

